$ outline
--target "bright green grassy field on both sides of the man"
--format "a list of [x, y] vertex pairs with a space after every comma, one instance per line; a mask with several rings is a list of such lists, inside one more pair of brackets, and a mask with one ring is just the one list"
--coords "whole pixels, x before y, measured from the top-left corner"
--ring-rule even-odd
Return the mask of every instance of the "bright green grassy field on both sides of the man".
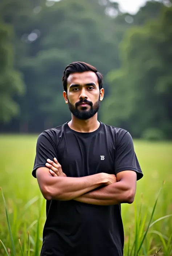
[[[7, 205], [5, 212], [0, 191], [1, 256], [40, 255], [45, 200], [42, 199], [37, 180], [31, 174], [36, 139], [37, 136], [31, 135], [0, 136], [0, 187]], [[144, 177], [138, 181], [135, 202], [122, 205], [124, 256], [156, 255], [161, 247], [158, 255], [170, 256], [172, 143], [134, 141], [134, 145]]]

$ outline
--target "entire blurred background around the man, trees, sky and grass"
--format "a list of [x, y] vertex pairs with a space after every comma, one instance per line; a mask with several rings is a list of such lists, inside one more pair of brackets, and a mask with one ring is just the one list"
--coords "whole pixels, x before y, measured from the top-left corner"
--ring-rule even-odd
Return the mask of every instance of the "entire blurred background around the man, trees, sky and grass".
[[131, 133], [144, 172], [122, 206], [124, 255], [172, 255], [171, 0], [0, 1], [0, 255], [39, 255], [36, 140], [71, 118], [61, 78], [73, 61], [103, 74], [98, 118]]

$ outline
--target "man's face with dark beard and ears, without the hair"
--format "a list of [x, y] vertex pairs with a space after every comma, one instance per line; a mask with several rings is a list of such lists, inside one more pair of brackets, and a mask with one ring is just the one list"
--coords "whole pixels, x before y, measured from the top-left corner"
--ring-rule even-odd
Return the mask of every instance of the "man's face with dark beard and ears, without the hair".
[[94, 72], [73, 73], [67, 79], [66, 103], [71, 113], [78, 119], [93, 117], [99, 110], [104, 90], [99, 90], [98, 78]]

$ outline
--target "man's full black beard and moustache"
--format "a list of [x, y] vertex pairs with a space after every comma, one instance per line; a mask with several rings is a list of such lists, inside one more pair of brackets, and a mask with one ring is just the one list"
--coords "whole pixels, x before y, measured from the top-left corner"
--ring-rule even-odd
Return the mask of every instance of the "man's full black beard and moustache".
[[[81, 110], [78, 109], [79, 104], [81, 103], [87, 103], [90, 105], [90, 109], [87, 109], [88, 107], [81, 107]], [[75, 106], [72, 105], [68, 99], [68, 105], [69, 105], [69, 110], [70, 112], [78, 119], [81, 120], [87, 120], [93, 117], [99, 110], [100, 107], [100, 96], [97, 102], [94, 103], [91, 101], [81, 100], [77, 103], [75, 103]]]

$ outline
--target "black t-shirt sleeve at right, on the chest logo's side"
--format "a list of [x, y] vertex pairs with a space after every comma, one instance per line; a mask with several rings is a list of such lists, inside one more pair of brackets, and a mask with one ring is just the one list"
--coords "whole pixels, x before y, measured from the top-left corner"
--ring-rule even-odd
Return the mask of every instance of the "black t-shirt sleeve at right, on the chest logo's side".
[[127, 131], [122, 138], [118, 138], [115, 153], [115, 173], [121, 171], [135, 171], [137, 180], [143, 177], [140, 164], [134, 151], [134, 144], [130, 133]]

